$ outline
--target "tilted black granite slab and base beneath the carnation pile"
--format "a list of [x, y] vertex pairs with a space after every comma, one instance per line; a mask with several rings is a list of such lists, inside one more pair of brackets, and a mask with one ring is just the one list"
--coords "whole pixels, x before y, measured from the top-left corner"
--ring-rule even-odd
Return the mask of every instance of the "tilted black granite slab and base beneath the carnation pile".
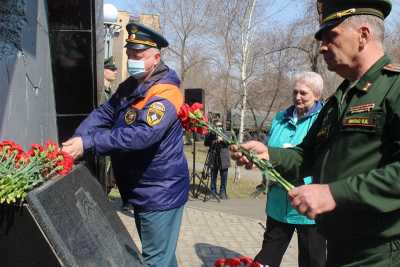
[[30, 192], [22, 208], [0, 207], [2, 267], [145, 266], [100, 184], [83, 165]]

